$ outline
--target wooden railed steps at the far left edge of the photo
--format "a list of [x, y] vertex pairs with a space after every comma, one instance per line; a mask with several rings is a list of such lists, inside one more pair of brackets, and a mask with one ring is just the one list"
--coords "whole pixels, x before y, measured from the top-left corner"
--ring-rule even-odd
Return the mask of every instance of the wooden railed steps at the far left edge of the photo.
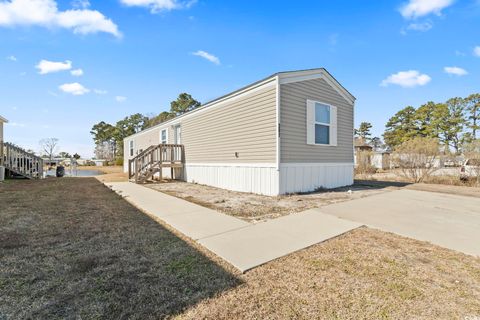
[[0, 143], [0, 165], [4, 166], [11, 176], [22, 176], [28, 179], [43, 178], [43, 159], [23, 150], [11, 143]]

